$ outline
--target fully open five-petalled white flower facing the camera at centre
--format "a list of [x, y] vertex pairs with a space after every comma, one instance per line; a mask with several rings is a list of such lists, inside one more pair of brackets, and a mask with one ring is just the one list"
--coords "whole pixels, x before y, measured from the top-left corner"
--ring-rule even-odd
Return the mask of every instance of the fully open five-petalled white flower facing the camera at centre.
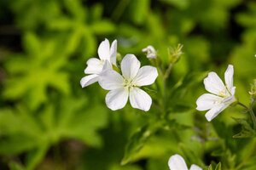
[[140, 68], [140, 61], [133, 54], [126, 54], [121, 61], [122, 76], [113, 70], [102, 72], [99, 84], [110, 90], [106, 95], [106, 104], [109, 109], [116, 111], [125, 107], [128, 98], [131, 106], [148, 111], [152, 104], [150, 96], [139, 87], [154, 83], [158, 76], [153, 66]]

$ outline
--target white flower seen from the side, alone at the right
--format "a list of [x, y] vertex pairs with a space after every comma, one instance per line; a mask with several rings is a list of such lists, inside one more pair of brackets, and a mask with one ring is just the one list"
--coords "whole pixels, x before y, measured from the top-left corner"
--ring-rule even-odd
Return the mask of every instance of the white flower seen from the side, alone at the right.
[[209, 110], [206, 114], [207, 121], [212, 121], [221, 111], [236, 101], [233, 74], [233, 65], [229, 65], [224, 74], [225, 84], [215, 72], [210, 72], [204, 79], [205, 88], [212, 94], [202, 94], [196, 100], [196, 109], [198, 111]]

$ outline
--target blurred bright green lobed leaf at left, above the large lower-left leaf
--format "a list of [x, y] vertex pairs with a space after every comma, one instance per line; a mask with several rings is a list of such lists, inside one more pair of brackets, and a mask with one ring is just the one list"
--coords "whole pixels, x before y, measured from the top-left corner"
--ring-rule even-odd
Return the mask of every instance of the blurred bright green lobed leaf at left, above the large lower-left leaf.
[[69, 75], [63, 71], [67, 55], [58, 51], [61, 44], [55, 39], [39, 39], [28, 32], [24, 45], [26, 54], [10, 56], [5, 64], [9, 77], [4, 86], [4, 98], [25, 99], [34, 110], [48, 99], [48, 88], [69, 94]]

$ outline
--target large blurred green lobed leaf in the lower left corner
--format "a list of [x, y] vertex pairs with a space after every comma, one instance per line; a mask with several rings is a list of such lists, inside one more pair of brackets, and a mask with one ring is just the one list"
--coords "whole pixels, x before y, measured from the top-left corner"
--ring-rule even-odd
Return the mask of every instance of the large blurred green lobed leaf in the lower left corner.
[[[90, 107], [90, 109], [88, 109]], [[86, 99], [61, 99], [59, 106], [48, 105], [38, 114], [24, 106], [0, 113], [0, 155], [26, 152], [26, 169], [34, 169], [49, 147], [63, 139], [77, 139], [98, 147], [98, 129], [107, 125], [101, 105], [86, 105]]]

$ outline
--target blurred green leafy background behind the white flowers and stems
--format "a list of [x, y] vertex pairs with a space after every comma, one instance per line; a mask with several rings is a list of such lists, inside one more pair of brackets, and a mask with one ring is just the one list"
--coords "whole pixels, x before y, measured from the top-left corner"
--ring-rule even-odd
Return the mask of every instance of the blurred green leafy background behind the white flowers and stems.
[[[131, 134], [157, 110], [110, 111], [106, 91], [80, 87], [104, 38], [117, 39], [119, 54], [136, 54], [143, 65], [142, 48], [153, 45], [167, 63], [167, 48], [183, 44], [168, 88], [188, 81], [169, 99], [185, 109], [173, 106], [173, 128], [134, 140], [128, 155]], [[222, 161], [224, 169], [253, 170], [255, 139], [232, 139], [239, 127], [231, 116], [241, 111], [231, 108], [210, 124], [195, 101], [206, 71], [223, 76], [232, 64], [236, 96], [248, 103], [254, 54], [254, 0], [1, 0], [0, 169], [167, 170], [169, 156], [180, 153], [188, 165]]]

